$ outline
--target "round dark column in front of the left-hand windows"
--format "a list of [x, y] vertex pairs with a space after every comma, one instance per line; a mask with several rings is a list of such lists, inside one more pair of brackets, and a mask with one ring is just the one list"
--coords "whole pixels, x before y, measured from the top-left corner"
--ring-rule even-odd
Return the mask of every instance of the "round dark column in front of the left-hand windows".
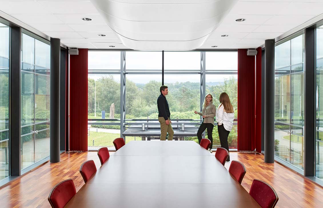
[[50, 38], [50, 162], [60, 161], [60, 40]]

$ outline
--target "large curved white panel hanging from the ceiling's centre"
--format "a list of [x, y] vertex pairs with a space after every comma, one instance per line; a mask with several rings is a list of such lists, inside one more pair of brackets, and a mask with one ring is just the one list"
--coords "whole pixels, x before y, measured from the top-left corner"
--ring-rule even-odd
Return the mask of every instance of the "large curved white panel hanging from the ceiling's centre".
[[134, 50], [193, 50], [237, 0], [91, 0], [120, 41]]

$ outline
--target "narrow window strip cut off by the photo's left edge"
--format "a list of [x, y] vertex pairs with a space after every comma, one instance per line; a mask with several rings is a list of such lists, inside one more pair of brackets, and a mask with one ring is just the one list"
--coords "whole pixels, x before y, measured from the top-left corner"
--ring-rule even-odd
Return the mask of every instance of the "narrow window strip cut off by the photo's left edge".
[[0, 180], [9, 176], [9, 36], [0, 23]]

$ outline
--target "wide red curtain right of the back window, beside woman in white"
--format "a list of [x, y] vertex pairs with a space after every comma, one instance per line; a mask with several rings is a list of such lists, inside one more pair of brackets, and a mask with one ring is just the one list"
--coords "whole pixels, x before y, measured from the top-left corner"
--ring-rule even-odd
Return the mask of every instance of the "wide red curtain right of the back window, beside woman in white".
[[238, 151], [255, 148], [255, 56], [238, 49]]

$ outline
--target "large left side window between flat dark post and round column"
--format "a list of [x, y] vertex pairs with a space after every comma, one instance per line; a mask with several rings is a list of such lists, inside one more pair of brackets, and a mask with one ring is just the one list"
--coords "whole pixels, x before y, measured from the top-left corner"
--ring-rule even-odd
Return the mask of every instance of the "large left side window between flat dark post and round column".
[[25, 33], [21, 44], [21, 169], [49, 156], [50, 46]]

